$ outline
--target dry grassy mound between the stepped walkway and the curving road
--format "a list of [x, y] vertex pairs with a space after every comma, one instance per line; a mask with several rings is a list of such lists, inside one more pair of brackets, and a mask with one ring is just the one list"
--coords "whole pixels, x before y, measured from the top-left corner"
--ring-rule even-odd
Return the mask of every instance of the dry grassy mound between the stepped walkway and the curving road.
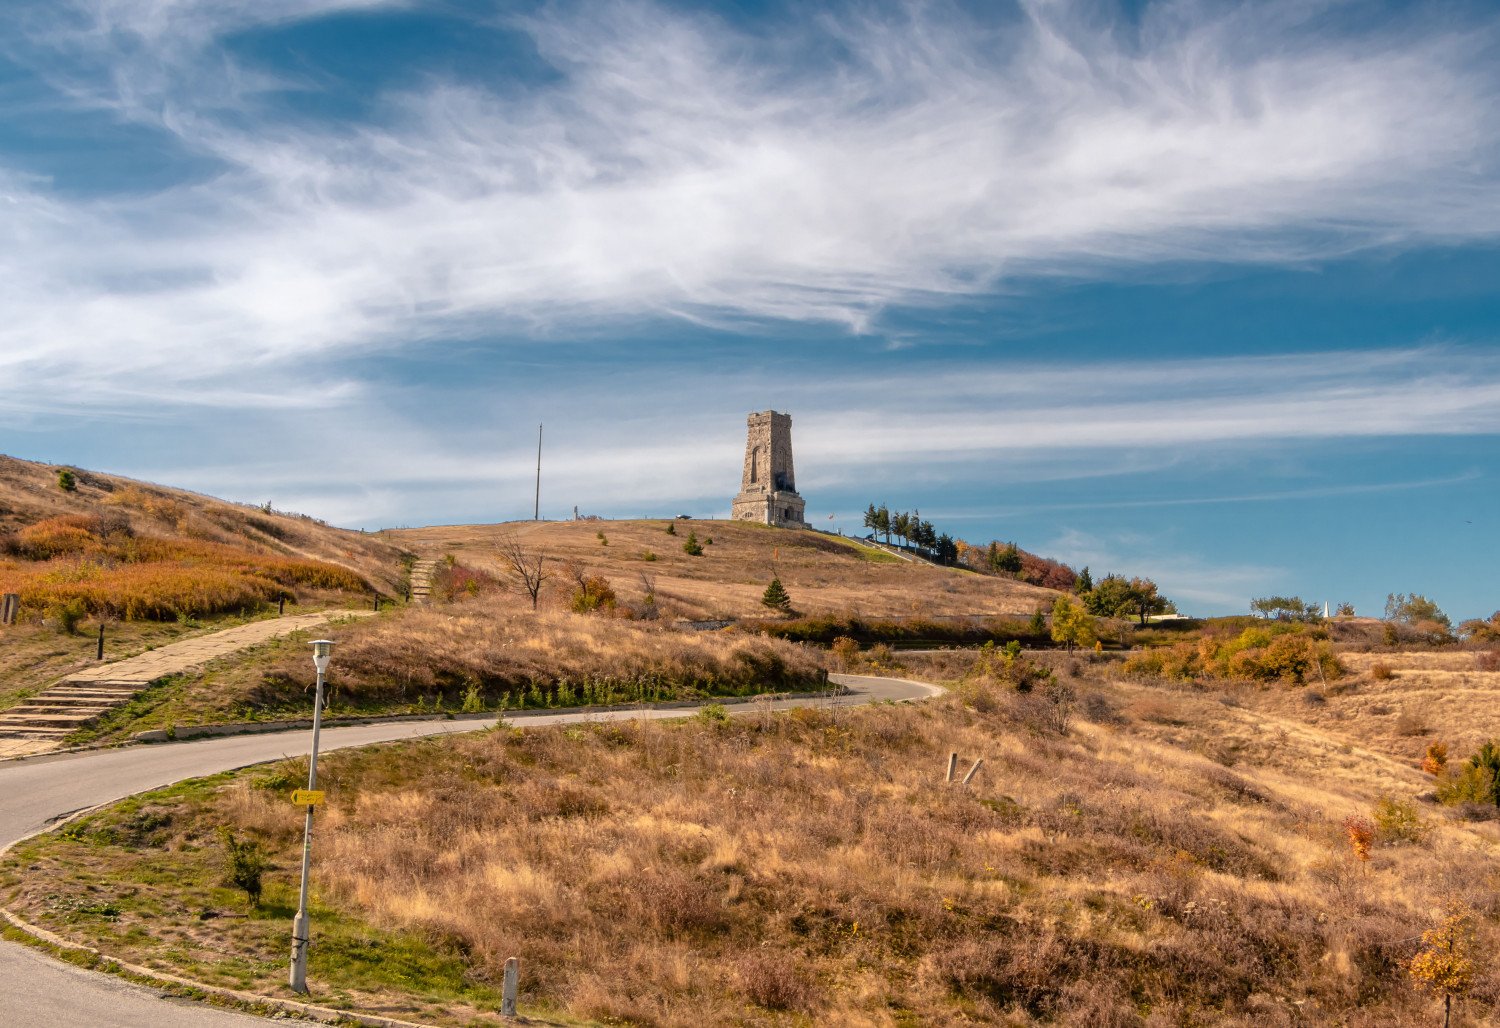
[[[478, 713], [753, 696], [825, 686], [820, 654], [740, 632], [687, 632], [502, 597], [384, 611], [320, 630], [336, 641], [330, 717]], [[3, 681], [3, 680], [0, 680]], [[94, 732], [303, 717], [312, 663], [302, 635], [210, 663], [142, 693]]]

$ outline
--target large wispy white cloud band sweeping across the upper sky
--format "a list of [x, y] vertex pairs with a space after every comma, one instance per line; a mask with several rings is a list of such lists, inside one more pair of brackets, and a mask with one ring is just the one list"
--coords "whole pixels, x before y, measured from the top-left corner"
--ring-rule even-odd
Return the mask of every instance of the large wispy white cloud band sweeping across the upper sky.
[[[1138, 24], [920, 5], [748, 35], [560, 5], [508, 23], [552, 78], [430, 77], [357, 125], [288, 117], [267, 98], [315, 86], [225, 45], [387, 6], [26, 9], [12, 50], [62, 69], [63, 102], [216, 171], [80, 197], [0, 164], [0, 399], [216, 384], [254, 402], [309, 357], [544, 342], [606, 318], [861, 330], [1029, 275], [1500, 233], [1500, 23], [1480, 15], [1334, 32], [1338, 6], [1318, 3], [1154, 5]], [[1078, 431], [1150, 441], [1107, 417]]]

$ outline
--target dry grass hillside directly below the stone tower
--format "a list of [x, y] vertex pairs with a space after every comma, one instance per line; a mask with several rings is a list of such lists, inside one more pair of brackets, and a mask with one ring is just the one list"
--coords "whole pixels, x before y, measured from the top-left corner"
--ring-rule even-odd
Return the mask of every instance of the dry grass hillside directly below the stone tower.
[[[669, 524], [675, 536], [666, 533]], [[690, 531], [699, 542], [714, 540], [704, 546], [702, 557], [682, 552]], [[608, 545], [600, 543], [598, 533], [604, 533]], [[675, 617], [768, 617], [760, 596], [772, 567], [794, 606], [807, 614], [1026, 617], [1038, 606], [1050, 609], [1056, 597], [1053, 590], [1023, 582], [904, 563], [836, 536], [732, 521], [524, 521], [381, 536], [424, 554], [454, 554], [465, 564], [500, 575], [504, 567], [495, 548], [514, 536], [560, 563], [574, 561], [586, 575], [608, 578], [627, 602], [639, 602], [640, 575], [651, 576], [658, 603]], [[646, 552], [657, 558], [644, 560]], [[554, 603], [566, 605], [567, 582], [554, 579], [550, 593]]]

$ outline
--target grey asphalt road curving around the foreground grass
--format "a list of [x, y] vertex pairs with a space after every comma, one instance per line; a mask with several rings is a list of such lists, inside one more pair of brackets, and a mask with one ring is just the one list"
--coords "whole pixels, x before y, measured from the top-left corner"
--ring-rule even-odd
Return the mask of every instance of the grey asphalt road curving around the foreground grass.
[[[831, 675], [850, 692], [832, 699], [788, 699], [776, 710], [807, 705], [858, 705], [880, 701], [927, 699], [942, 692], [938, 686], [903, 678]], [[730, 713], [748, 714], [758, 708], [744, 704]], [[692, 708], [618, 710], [572, 714], [507, 714], [522, 726], [560, 725], [585, 720], [669, 719], [692, 714]], [[489, 720], [404, 722], [327, 728], [322, 750], [388, 743], [420, 735], [470, 732]], [[171, 785], [201, 774], [297, 756], [308, 752], [308, 732], [276, 735], [232, 735], [166, 746], [58, 753], [26, 761], [0, 762], [0, 846], [45, 831], [60, 818], [123, 800], [135, 792]], [[264, 1025], [260, 1017], [225, 1013], [210, 1007], [164, 999], [152, 989], [128, 984], [120, 978], [82, 971], [40, 956], [15, 944], [0, 944], [0, 1011], [9, 1028], [54, 1028], [87, 1025], [111, 1028], [231, 1028]]]

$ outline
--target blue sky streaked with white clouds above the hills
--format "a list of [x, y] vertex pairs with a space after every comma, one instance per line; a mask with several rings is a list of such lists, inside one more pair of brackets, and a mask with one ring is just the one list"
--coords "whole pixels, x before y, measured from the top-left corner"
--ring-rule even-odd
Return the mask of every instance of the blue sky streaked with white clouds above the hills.
[[[0, 450], [1500, 606], [1488, 3], [12, 0]], [[828, 519], [828, 515], [836, 515]]]

